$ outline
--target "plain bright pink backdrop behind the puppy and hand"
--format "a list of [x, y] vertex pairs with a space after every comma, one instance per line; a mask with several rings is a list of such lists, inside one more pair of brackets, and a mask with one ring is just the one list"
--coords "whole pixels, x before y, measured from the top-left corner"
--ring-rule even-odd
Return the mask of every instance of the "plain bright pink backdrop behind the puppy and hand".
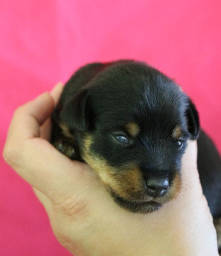
[[[0, 151], [17, 106], [80, 65], [143, 60], [194, 100], [221, 152], [220, 0], [0, 1]], [[0, 255], [70, 255], [32, 189], [0, 157]]]

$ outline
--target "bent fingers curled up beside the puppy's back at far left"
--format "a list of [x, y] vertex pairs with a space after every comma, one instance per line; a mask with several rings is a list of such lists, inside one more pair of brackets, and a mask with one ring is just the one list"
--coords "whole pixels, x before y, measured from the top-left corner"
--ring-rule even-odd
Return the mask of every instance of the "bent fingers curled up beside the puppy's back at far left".
[[[53, 88], [51, 95], [43, 93], [15, 111], [8, 130], [6, 145], [4, 146], [3, 155], [7, 162], [13, 164], [11, 162], [13, 159], [20, 158], [20, 152], [25, 140], [39, 137], [40, 133], [42, 133], [42, 138], [49, 139], [50, 122], [48, 119], [54, 110], [62, 89], [63, 86], [59, 83]], [[40, 128], [41, 125], [42, 128]], [[14, 157], [11, 157], [11, 153], [14, 154]], [[8, 155], [10, 157], [7, 157]]]

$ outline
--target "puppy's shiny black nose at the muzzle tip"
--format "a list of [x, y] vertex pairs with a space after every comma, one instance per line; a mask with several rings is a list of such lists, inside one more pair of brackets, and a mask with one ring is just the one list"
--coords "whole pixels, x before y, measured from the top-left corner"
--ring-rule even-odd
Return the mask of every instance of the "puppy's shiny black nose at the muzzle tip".
[[169, 182], [167, 179], [149, 179], [146, 182], [149, 196], [158, 197], [163, 196], [169, 189]]

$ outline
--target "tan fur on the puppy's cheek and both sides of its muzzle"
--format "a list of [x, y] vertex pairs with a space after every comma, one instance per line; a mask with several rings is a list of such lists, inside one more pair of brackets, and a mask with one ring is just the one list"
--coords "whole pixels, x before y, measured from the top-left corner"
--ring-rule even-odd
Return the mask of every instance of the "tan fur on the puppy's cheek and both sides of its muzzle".
[[[134, 166], [132, 163], [128, 163], [128, 166], [121, 166], [119, 168], [109, 166], [105, 159], [91, 151], [91, 143], [93, 143], [93, 137], [86, 135], [84, 138], [82, 157], [99, 175], [107, 189], [111, 189], [116, 195], [121, 196], [121, 198], [133, 201], [148, 198], [141, 170], [139, 170], [137, 166]], [[164, 203], [172, 200], [172, 198], [177, 196], [180, 188], [181, 178], [177, 174], [168, 193], [166, 193], [165, 196], [156, 198], [154, 201]]]

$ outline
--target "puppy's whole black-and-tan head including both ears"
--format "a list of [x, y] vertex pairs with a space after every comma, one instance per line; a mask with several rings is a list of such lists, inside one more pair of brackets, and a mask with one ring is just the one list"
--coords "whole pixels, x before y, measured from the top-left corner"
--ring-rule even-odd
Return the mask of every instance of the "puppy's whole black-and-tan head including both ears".
[[61, 113], [78, 131], [82, 158], [114, 200], [151, 212], [176, 197], [187, 140], [199, 133], [191, 100], [171, 79], [143, 63], [115, 63]]

